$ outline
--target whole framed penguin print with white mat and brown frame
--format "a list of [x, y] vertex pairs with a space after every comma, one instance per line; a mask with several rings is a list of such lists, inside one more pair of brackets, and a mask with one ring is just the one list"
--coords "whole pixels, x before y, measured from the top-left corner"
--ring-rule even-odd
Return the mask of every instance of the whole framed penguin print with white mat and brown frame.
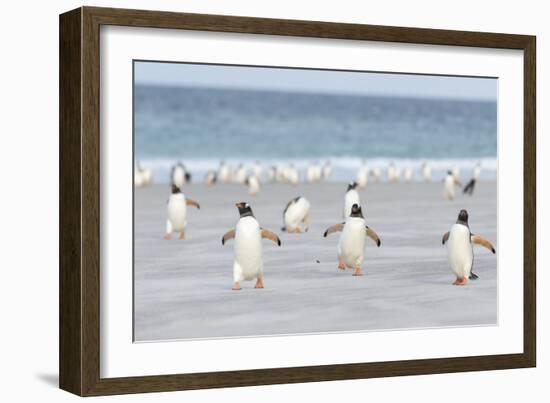
[[535, 366], [535, 37], [60, 16], [60, 386]]

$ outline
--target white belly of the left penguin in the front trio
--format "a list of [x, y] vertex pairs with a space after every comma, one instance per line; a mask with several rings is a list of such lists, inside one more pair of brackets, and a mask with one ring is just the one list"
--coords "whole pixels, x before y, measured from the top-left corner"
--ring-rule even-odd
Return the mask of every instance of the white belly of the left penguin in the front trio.
[[234, 281], [252, 280], [263, 272], [262, 236], [254, 217], [244, 217], [235, 228]]

